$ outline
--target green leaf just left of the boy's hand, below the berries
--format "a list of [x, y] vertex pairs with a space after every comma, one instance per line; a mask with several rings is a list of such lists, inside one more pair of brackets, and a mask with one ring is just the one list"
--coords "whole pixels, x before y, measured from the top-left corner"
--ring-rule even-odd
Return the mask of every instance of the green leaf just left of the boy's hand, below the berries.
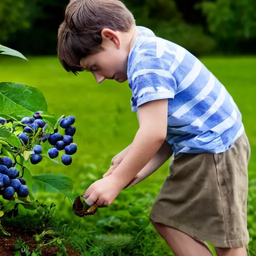
[[66, 174], [49, 173], [32, 176], [34, 179], [33, 189], [47, 192], [62, 192], [66, 194], [73, 189], [73, 180]]

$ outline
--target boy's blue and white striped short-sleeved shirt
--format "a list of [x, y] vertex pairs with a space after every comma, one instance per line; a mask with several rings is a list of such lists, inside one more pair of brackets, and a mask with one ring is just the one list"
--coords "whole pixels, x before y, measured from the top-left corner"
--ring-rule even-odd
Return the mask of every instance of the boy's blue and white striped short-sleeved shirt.
[[166, 141], [178, 153], [226, 151], [243, 130], [241, 113], [220, 81], [189, 51], [138, 26], [128, 57], [131, 110], [168, 98]]

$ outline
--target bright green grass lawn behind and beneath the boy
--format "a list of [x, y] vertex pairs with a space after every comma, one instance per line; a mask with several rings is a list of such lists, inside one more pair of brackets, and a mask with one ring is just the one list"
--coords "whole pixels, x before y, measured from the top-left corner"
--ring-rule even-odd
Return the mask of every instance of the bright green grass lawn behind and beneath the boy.
[[[74, 180], [80, 194], [107, 171], [111, 158], [126, 147], [138, 128], [136, 113], [130, 110], [128, 84], [105, 81], [97, 84], [89, 73], [74, 76], [65, 72], [56, 57], [29, 57], [29, 62], [14, 57], [0, 58], [0, 80], [25, 83], [39, 88], [56, 116], [75, 115], [78, 150], [70, 166], [43, 160], [32, 173], [61, 172]], [[202, 58], [202, 62], [226, 86], [237, 103], [251, 145], [249, 163], [248, 229], [250, 248], [256, 250], [256, 133], [255, 68], [256, 57]], [[139, 184], [123, 190], [112, 205], [100, 208], [93, 216], [79, 218], [72, 213], [61, 194], [37, 194], [51, 200], [57, 210], [51, 222], [69, 239], [81, 255], [172, 255], [154, 231], [135, 224], [127, 211], [138, 204], [148, 214], [154, 198], [168, 175], [168, 162]], [[142, 214], [142, 213], [141, 213]], [[146, 222], [146, 220], [144, 220]], [[24, 221], [28, 225], [28, 221]]]

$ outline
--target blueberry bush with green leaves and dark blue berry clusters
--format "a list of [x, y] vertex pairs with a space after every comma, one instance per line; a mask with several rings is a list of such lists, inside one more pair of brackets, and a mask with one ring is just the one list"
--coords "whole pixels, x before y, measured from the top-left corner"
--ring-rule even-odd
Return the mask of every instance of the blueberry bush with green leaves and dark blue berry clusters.
[[[0, 53], [21, 57], [21, 53], [0, 45]], [[73, 141], [74, 116], [58, 119], [47, 112], [43, 94], [35, 87], [14, 82], [0, 82], [0, 235], [10, 236], [1, 225], [4, 217], [17, 217], [20, 205], [36, 210], [42, 220], [41, 229], [47, 227], [54, 204], [50, 207], [36, 200], [34, 192], [62, 192], [74, 203], [73, 181], [61, 173], [32, 175], [29, 164], [39, 163], [43, 157], [55, 163], [70, 165], [77, 151]], [[59, 161], [56, 158], [59, 156]], [[37, 235], [38, 242], [45, 230]], [[46, 234], [54, 234], [47, 231]], [[38, 238], [39, 237], [39, 238]], [[20, 241], [22, 243], [22, 241]], [[65, 254], [63, 241], [52, 236], [47, 244], [59, 245], [58, 255]], [[41, 255], [42, 242], [32, 255]], [[25, 246], [17, 245], [18, 253]], [[19, 255], [19, 254], [15, 254]], [[29, 254], [26, 254], [29, 255]]]

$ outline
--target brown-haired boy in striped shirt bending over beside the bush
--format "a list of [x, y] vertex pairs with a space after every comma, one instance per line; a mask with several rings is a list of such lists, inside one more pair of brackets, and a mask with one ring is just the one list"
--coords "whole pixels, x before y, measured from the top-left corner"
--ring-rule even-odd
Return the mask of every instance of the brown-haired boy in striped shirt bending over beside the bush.
[[174, 153], [150, 219], [175, 255], [244, 256], [250, 147], [241, 114], [217, 78], [181, 46], [137, 27], [118, 0], [71, 0], [58, 31], [67, 71], [88, 70], [98, 83], [124, 82], [139, 129], [103, 178], [83, 194], [112, 203]]

